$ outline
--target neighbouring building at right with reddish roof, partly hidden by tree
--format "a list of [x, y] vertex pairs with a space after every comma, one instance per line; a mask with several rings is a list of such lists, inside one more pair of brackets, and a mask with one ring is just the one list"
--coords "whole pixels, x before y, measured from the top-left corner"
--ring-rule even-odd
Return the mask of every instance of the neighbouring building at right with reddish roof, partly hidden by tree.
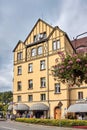
[[[87, 37], [81, 37], [87, 32], [82, 33], [71, 41], [73, 47], [75, 48], [76, 53], [87, 54]], [[77, 39], [78, 38], [78, 39]], [[76, 115], [82, 116], [83, 119], [87, 120], [87, 84], [83, 83], [80, 87], [70, 88], [70, 106], [67, 112], [75, 113]]]

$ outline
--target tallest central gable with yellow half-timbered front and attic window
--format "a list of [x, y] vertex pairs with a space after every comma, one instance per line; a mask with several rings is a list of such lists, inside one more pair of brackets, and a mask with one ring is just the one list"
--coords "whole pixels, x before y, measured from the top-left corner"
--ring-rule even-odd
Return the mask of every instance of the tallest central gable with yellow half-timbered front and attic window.
[[51, 25], [41, 19], [38, 19], [31, 32], [27, 36], [26, 40], [24, 41], [24, 44], [29, 45], [46, 39], [52, 30], [53, 27]]

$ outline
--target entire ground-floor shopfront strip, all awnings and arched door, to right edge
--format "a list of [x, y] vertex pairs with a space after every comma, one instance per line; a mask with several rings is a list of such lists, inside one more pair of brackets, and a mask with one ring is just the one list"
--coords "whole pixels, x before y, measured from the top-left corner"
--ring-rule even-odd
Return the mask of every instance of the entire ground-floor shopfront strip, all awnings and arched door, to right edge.
[[49, 103], [14, 104], [8, 110], [19, 117], [28, 118], [51, 118], [51, 119], [86, 119], [87, 120], [87, 99], [78, 100], [69, 105], [67, 101], [55, 101]]

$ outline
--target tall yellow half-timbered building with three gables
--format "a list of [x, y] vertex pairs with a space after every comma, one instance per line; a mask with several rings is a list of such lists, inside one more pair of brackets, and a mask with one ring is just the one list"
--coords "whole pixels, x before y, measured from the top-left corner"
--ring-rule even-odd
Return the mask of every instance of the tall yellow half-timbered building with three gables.
[[[39, 19], [24, 42], [14, 48], [14, 112], [29, 112], [36, 118], [64, 117], [76, 93], [51, 75], [58, 51], [74, 53], [67, 34]], [[78, 90], [75, 89], [77, 92]], [[72, 93], [72, 95], [70, 94]], [[81, 92], [79, 93], [80, 96]], [[71, 99], [70, 99], [71, 98]]]

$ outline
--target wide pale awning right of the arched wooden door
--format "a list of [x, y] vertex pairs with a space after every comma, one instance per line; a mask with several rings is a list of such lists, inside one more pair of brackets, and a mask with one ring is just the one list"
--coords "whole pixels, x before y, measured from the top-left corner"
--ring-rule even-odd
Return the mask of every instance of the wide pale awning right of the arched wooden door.
[[87, 103], [77, 103], [70, 105], [67, 112], [87, 112]]

